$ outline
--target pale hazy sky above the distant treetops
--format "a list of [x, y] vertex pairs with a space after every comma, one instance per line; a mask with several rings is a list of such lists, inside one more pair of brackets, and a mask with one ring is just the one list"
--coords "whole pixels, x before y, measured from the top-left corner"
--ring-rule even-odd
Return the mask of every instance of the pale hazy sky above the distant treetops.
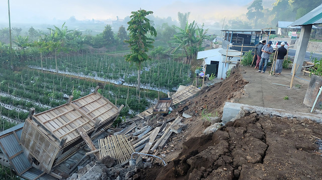
[[[178, 12], [190, 12], [189, 20], [198, 23], [213, 23], [247, 13], [247, 7], [254, 0], [10, 0], [12, 23], [49, 23], [67, 20], [116, 20], [130, 16], [140, 8], [152, 11], [154, 16], [177, 20]], [[270, 6], [275, 0], [264, 0]], [[0, 2], [0, 23], [8, 23], [8, 0]]]

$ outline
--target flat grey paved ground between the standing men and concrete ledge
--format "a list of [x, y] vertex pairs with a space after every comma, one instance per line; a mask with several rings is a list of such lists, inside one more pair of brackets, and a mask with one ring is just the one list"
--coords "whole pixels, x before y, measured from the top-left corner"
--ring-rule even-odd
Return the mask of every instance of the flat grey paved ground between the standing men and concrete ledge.
[[[249, 83], [245, 85], [247, 97], [242, 97], [235, 102], [309, 113], [311, 107], [304, 105], [303, 100], [310, 77], [308, 75], [299, 75], [298, 77], [302, 79], [295, 77], [293, 88], [290, 89], [289, 87], [281, 86], [290, 85], [292, 77], [290, 69], [283, 69], [279, 76], [270, 76], [269, 70], [267, 69], [266, 73], [263, 74], [258, 73], [257, 70], [249, 66], [240, 67], [242, 76]], [[283, 99], [286, 96], [288, 100]]]

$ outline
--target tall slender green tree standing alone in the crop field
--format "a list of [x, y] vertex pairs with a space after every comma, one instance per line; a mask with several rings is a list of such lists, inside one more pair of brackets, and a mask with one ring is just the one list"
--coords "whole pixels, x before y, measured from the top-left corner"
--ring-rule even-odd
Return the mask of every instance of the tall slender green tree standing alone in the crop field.
[[146, 18], [147, 15], [152, 13], [145, 10], [131, 12], [131, 20], [127, 23], [129, 25], [127, 30], [130, 32], [130, 39], [125, 42], [129, 44], [131, 52], [125, 55], [125, 60], [135, 63], [137, 66], [137, 90], [140, 90], [141, 85], [141, 63], [151, 59], [147, 52], [153, 48], [154, 39], [149, 38], [148, 35], [155, 37], [157, 34], [154, 27], [150, 25], [150, 20]]

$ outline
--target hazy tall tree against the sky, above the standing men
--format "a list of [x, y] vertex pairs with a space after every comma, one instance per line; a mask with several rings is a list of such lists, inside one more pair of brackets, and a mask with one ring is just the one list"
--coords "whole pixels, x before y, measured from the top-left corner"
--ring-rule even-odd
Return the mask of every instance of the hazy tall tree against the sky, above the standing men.
[[254, 25], [257, 27], [258, 20], [264, 17], [263, 0], [255, 0], [251, 6], [247, 8], [246, 16], [249, 20], [254, 20]]

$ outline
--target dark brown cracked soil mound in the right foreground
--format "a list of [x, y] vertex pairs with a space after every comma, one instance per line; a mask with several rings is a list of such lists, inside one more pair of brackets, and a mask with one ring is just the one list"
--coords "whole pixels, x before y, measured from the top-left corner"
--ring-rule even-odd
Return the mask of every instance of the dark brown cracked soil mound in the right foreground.
[[311, 120], [248, 114], [183, 143], [155, 179], [319, 179], [322, 157], [313, 153], [311, 135], [321, 137], [321, 128]]

